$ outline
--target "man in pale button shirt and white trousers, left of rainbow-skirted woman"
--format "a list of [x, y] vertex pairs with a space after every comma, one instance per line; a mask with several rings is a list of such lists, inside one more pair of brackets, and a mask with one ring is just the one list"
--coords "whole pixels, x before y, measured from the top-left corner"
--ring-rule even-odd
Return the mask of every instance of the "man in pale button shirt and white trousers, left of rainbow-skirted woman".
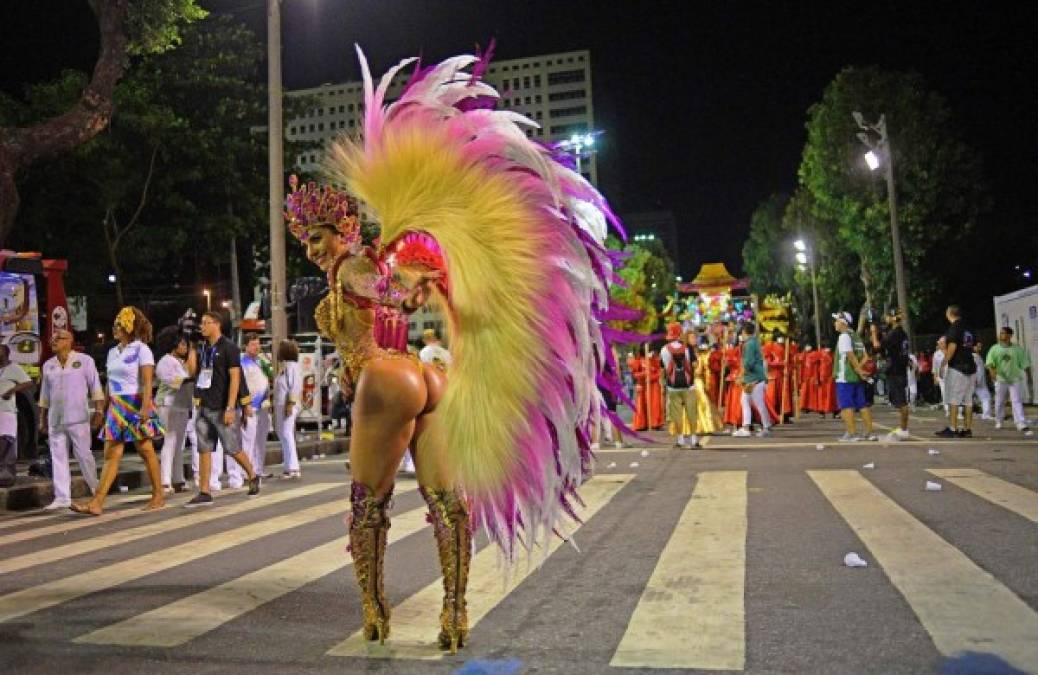
[[54, 356], [44, 363], [39, 377], [39, 431], [48, 436], [54, 476], [54, 501], [44, 507], [47, 511], [72, 506], [70, 443], [90, 492], [98, 487], [90, 430], [101, 427], [105, 413], [105, 392], [93, 359], [74, 352], [72, 333], [63, 329], [51, 334], [51, 349]]

